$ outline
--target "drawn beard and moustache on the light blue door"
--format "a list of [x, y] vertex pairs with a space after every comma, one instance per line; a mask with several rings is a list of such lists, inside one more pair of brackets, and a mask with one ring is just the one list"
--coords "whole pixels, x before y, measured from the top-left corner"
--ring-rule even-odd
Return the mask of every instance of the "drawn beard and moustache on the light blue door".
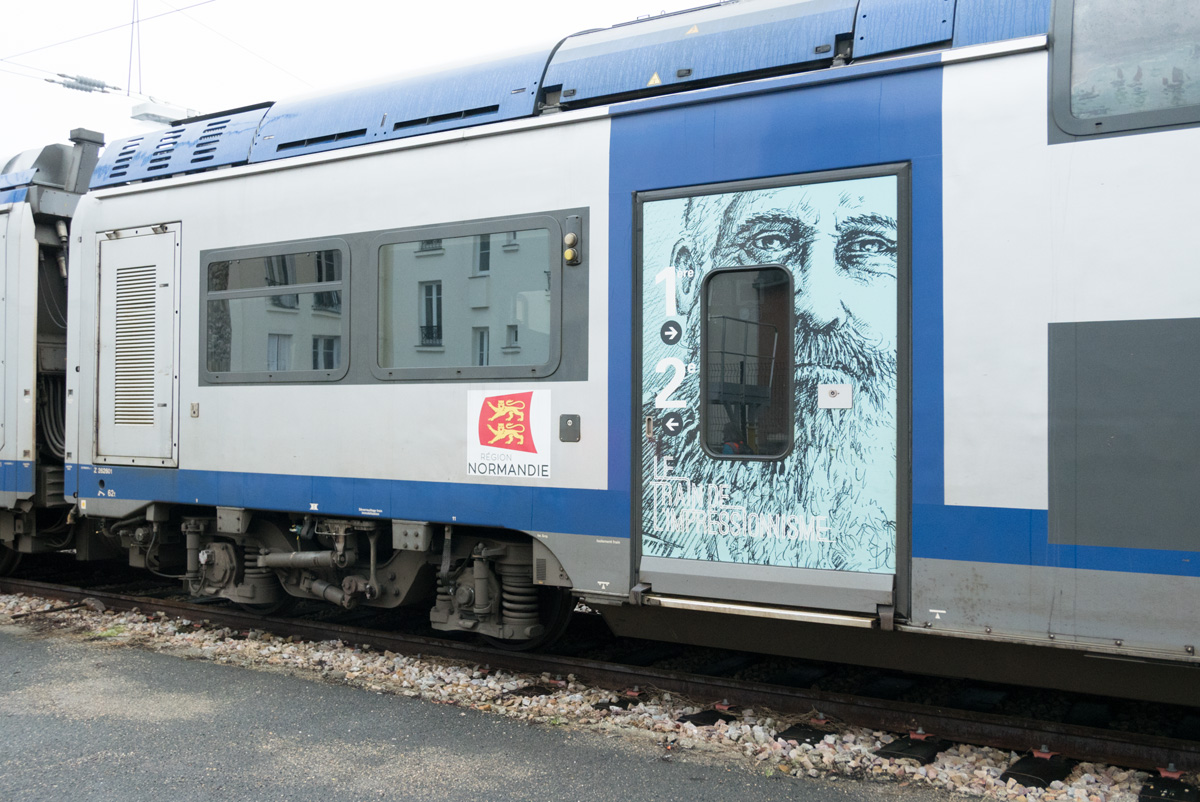
[[[704, 526], [683, 526], [673, 533], [647, 529], [664, 538], [652, 544], [650, 553], [836, 570], [895, 567], [895, 354], [869, 342], [853, 325], [828, 331], [802, 327], [794, 361], [796, 442], [787, 457], [713, 459], [701, 448], [702, 432], [692, 420], [674, 438], [678, 445], [671, 453], [678, 461], [672, 473], [692, 485], [724, 486], [726, 503], [744, 508], [748, 517], [784, 511], [810, 525], [823, 520], [822, 532], [779, 538], [714, 537]], [[818, 408], [820, 384], [850, 384], [852, 407]], [[701, 400], [689, 401], [698, 408]], [[653, 466], [655, 447], [646, 445], [643, 457]], [[648, 517], [655, 509], [652, 484], [647, 483], [644, 497]]]

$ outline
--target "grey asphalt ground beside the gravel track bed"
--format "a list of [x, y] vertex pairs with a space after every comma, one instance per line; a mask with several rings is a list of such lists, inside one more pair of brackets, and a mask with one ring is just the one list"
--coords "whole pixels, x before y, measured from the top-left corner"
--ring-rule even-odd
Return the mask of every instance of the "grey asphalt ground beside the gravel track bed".
[[938, 802], [768, 774], [642, 735], [528, 724], [0, 627], [0, 800]]

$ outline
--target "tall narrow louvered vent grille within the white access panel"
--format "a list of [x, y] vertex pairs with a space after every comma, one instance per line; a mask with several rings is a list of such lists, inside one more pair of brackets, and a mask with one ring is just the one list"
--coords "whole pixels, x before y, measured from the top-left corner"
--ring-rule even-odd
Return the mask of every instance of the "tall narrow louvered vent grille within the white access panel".
[[155, 265], [116, 270], [113, 421], [152, 426], [155, 411]]

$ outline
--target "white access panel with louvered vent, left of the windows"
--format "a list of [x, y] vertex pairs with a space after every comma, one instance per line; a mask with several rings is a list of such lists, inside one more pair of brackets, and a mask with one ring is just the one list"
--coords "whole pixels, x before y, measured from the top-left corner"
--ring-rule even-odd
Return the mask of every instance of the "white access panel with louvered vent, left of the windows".
[[96, 462], [176, 467], [178, 223], [100, 243]]

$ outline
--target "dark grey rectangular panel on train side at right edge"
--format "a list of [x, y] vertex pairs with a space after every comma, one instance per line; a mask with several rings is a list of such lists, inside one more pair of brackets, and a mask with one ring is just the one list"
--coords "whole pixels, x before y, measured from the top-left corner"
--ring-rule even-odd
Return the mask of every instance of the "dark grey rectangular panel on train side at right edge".
[[1200, 319], [1050, 324], [1050, 543], [1200, 551]]

